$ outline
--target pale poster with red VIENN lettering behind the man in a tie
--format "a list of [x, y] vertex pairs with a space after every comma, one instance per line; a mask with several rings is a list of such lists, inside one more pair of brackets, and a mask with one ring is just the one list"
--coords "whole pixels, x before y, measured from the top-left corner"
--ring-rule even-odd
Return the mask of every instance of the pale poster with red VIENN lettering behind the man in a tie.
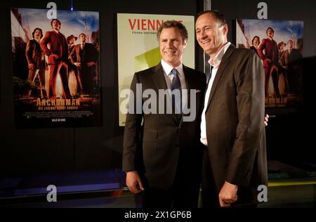
[[[162, 56], [159, 51], [157, 30], [163, 22], [177, 20], [187, 28], [187, 47], [183, 64], [195, 68], [195, 18], [190, 15], [117, 14], [117, 48], [119, 70], [119, 126], [125, 126], [126, 94], [133, 74], [157, 65]], [[122, 103], [123, 102], [123, 103]]]

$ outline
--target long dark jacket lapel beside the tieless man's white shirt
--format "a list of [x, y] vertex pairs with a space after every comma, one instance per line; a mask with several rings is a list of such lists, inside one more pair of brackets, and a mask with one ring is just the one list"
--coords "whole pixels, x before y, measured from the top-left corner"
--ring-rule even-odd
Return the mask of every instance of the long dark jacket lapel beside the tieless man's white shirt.
[[206, 111], [209, 109], [209, 105], [211, 103], [211, 100], [213, 98], [213, 95], [216, 91], [216, 87], [220, 81], [220, 77], [222, 77], [225, 67], [226, 65], [228, 65], [229, 61], [230, 61], [230, 55], [232, 55], [232, 52], [235, 50], [235, 46], [230, 45], [227, 49], [227, 51], [225, 52], [225, 54], [223, 55], [223, 58], [220, 62], [220, 66], [218, 67], [218, 70], [216, 72], [216, 76], [215, 79], [213, 81], [213, 85], [212, 85], [212, 89], [211, 89], [211, 93], [209, 95], [209, 101], [207, 103], [207, 107], [206, 107]]

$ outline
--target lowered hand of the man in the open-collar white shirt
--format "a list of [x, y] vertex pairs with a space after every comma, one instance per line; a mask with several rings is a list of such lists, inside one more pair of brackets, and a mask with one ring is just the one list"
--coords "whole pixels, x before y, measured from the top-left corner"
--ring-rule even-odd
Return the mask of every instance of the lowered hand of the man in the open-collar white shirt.
[[223, 188], [218, 195], [220, 207], [230, 207], [230, 204], [237, 201], [238, 186], [225, 181]]

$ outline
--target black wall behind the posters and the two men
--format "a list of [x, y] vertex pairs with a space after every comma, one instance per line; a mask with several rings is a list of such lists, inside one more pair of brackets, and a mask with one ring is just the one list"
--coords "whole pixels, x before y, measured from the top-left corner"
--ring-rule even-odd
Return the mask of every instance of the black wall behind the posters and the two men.
[[[49, 1], [5, 1], [1, 6], [0, 24], [0, 176], [23, 176], [63, 171], [121, 168], [124, 128], [119, 127], [117, 86], [117, 13], [197, 15], [203, 11], [201, 0], [103, 1], [74, 0], [75, 11], [100, 13], [100, 67], [102, 81], [103, 123], [101, 127], [15, 129], [10, 8], [46, 8]], [[70, 10], [69, 1], [54, 1], [60, 10]], [[222, 11], [232, 39], [232, 20], [256, 19], [258, 2], [211, 1], [211, 8]], [[302, 164], [316, 159], [312, 145], [315, 123], [313, 115], [316, 55], [316, 2], [265, 1], [268, 19], [303, 20], [304, 105], [291, 115], [276, 115], [269, 120], [267, 131], [268, 159]], [[62, 32], [62, 30], [61, 30]], [[202, 51], [196, 44], [196, 67], [203, 70]], [[131, 72], [133, 72], [131, 70]], [[268, 112], [268, 110], [267, 110]]]

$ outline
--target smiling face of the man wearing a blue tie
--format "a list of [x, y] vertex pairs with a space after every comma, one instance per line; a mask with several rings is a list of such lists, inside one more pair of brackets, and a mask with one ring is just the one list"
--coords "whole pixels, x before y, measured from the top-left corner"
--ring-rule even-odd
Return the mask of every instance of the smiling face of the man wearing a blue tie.
[[172, 67], [177, 67], [182, 63], [187, 40], [183, 39], [178, 27], [164, 28], [159, 37], [159, 46], [162, 59]]

